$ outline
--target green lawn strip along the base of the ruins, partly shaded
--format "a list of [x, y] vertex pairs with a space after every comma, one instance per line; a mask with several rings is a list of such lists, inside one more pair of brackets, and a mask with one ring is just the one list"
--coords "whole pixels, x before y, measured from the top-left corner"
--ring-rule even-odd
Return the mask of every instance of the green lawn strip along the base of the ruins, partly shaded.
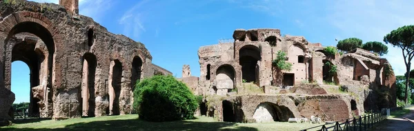
[[[137, 119], [137, 114], [68, 119], [62, 121], [29, 121], [15, 123], [0, 130], [302, 130], [323, 123], [229, 123], [213, 120], [211, 117], [197, 117], [193, 120], [148, 122]], [[320, 128], [317, 128], [320, 129]]]

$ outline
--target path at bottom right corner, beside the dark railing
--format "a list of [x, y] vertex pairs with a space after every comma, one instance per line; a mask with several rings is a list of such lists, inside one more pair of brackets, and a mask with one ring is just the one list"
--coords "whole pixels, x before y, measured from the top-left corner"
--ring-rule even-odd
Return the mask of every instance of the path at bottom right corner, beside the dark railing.
[[[414, 106], [406, 109], [411, 110], [411, 112], [402, 117], [387, 119], [384, 123], [380, 123], [381, 125], [373, 130], [414, 130]], [[408, 121], [404, 118], [411, 119], [413, 121]]]

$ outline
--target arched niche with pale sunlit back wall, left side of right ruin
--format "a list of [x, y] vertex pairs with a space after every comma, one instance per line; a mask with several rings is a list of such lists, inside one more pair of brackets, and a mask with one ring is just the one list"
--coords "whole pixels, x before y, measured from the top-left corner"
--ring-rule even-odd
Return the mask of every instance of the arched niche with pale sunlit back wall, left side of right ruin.
[[[216, 70], [216, 88], [219, 90], [228, 90], [235, 87], [235, 68], [230, 65], [221, 65]], [[222, 92], [224, 93], [224, 92]], [[217, 94], [222, 94], [217, 92]]]

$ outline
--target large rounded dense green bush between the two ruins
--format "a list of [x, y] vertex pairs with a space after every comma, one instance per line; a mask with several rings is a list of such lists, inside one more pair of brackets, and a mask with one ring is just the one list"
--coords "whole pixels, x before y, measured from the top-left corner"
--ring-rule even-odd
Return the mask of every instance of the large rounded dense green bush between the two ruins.
[[195, 95], [172, 76], [156, 75], [135, 85], [134, 108], [146, 121], [193, 119], [198, 107]]

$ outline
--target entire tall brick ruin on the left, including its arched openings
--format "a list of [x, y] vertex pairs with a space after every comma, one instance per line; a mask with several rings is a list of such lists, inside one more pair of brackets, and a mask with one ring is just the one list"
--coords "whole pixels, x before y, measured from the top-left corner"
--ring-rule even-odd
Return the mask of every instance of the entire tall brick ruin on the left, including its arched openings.
[[10, 91], [13, 61], [30, 68], [30, 114], [53, 119], [129, 114], [135, 81], [172, 74], [144, 44], [79, 15], [78, 0], [59, 3], [0, 1], [0, 121], [12, 118], [18, 93]]

